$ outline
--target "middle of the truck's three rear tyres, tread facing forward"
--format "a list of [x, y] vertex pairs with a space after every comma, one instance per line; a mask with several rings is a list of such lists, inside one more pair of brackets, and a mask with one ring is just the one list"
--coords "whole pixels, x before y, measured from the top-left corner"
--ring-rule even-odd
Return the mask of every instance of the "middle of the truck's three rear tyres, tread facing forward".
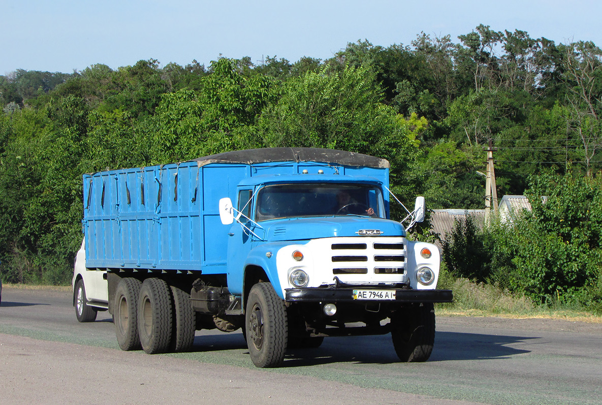
[[146, 279], [138, 298], [138, 335], [148, 354], [164, 353], [172, 340], [172, 297], [164, 280]]

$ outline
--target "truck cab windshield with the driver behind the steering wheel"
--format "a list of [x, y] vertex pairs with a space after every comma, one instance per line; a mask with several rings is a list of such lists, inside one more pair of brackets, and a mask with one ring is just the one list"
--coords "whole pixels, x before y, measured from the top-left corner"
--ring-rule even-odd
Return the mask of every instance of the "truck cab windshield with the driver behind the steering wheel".
[[362, 184], [279, 184], [259, 190], [256, 221], [289, 217], [363, 215], [385, 218], [382, 192]]

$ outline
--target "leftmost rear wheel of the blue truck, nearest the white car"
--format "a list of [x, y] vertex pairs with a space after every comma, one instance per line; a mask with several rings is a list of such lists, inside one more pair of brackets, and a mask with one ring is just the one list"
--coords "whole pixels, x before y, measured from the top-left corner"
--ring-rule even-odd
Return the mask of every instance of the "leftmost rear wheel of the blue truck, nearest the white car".
[[117, 343], [122, 350], [137, 350], [140, 348], [138, 338], [138, 295], [140, 280], [124, 277], [117, 283], [113, 311], [113, 323]]

